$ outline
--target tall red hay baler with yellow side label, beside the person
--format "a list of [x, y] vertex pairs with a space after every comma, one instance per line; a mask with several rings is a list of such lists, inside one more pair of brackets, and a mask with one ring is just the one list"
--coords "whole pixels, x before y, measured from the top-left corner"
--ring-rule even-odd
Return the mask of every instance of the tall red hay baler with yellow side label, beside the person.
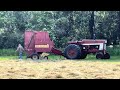
[[54, 52], [62, 55], [60, 50], [54, 48], [54, 42], [46, 31], [26, 31], [24, 34], [24, 47], [27, 58], [39, 59], [42, 53]]

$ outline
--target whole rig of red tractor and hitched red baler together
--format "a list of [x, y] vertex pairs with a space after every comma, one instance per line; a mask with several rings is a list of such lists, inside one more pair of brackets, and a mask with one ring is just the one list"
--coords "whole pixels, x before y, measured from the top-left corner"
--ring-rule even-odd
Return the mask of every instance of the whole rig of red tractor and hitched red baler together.
[[54, 47], [48, 32], [26, 31], [24, 38], [25, 51], [28, 58], [39, 59], [45, 52], [62, 55], [67, 59], [85, 59], [87, 54], [96, 54], [97, 59], [110, 59], [106, 52], [106, 40], [82, 40], [68, 42], [64, 52]]

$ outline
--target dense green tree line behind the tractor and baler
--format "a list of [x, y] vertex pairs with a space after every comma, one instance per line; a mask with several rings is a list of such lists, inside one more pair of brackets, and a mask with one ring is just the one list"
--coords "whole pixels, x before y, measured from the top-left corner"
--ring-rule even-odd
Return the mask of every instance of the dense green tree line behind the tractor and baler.
[[47, 31], [57, 48], [94, 34], [108, 45], [119, 45], [120, 11], [0, 11], [0, 49], [24, 45], [28, 29]]

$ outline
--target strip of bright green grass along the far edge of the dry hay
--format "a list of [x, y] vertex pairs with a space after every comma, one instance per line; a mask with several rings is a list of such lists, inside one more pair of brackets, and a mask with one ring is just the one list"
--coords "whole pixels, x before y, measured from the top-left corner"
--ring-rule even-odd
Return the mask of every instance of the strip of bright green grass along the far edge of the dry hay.
[[[65, 60], [63, 56], [58, 56], [58, 55], [49, 55], [48, 58], [49, 61]], [[0, 60], [18, 60], [18, 56], [0, 56]], [[28, 60], [28, 59], [26, 59], [26, 56], [23, 56], [23, 60]], [[46, 61], [46, 60], [41, 60], [41, 61]], [[111, 56], [111, 59], [104, 60], [104, 59], [96, 59], [95, 55], [88, 55], [86, 59], [81, 59], [81, 61], [120, 62], [120, 56]]]

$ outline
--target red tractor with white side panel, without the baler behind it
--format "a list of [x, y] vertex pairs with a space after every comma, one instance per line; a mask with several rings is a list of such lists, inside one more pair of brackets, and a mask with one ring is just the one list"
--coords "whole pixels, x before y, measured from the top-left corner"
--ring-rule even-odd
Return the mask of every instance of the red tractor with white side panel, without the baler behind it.
[[85, 59], [87, 54], [96, 54], [97, 59], [110, 59], [106, 51], [106, 40], [90, 40], [68, 42], [64, 50], [64, 57], [67, 59]]

